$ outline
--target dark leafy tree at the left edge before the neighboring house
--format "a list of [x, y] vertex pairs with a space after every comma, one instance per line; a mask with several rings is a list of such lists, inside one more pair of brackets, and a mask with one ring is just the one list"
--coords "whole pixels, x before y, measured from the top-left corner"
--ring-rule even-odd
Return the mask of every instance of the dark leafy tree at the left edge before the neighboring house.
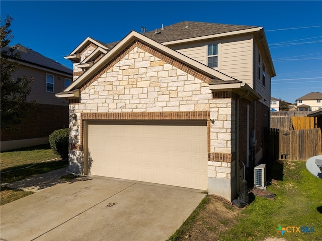
[[13, 78], [12, 74], [18, 69], [20, 53], [19, 44], [9, 47], [13, 39], [10, 29], [13, 18], [7, 16], [5, 24], [1, 26], [1, 129], [11, 129], [23, 122], [24, 117], [33, 109], [35, 103], [26, 103], [31, 92], [29, 79], [26, 76]]

